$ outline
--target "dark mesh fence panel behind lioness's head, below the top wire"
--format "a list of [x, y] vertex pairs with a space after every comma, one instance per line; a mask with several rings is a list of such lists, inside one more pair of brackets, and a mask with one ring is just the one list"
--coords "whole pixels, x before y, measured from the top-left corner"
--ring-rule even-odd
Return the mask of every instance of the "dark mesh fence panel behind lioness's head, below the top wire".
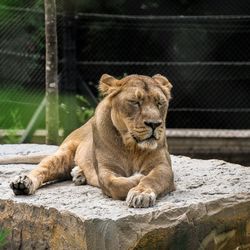
[[76, 23], [86, 82], [161, 73], [174, 86], [169, 127], [249, 128], [250, 17], [79, 14]]

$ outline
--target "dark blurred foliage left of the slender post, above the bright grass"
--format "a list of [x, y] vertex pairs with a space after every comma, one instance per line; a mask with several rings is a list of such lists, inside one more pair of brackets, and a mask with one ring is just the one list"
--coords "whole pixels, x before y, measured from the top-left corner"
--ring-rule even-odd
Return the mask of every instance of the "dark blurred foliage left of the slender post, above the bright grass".
[[0, 0], [0, 30], [1, 87], [43, 82], [43, 0]]

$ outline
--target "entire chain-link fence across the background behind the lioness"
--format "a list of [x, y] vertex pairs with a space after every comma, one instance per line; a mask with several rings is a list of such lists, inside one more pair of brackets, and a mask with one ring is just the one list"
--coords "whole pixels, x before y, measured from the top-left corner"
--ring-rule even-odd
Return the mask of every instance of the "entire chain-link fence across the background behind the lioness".
[[[82, 122], [82, 96], [96, 104], [103, 73], [166, 75], [174, 86], [169, 128], [249, 129], [249, 7], [207, 2], [57, 1], [66, 134]], [[41, 107], [43, 12], [42, 0], [0, 3], [0, 129], [27, 128]], [[36, 126], [44, 129], [39, 117]]]

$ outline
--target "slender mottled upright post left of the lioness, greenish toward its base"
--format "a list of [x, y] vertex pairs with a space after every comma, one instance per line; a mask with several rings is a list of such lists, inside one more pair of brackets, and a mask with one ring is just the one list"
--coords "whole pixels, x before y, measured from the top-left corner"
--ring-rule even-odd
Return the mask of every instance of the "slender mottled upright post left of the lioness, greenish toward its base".
[[57, 31], [55, 0], [44, 0], [46, 37], [46, 130], [47, 144], [58, 143], [58, 78]]

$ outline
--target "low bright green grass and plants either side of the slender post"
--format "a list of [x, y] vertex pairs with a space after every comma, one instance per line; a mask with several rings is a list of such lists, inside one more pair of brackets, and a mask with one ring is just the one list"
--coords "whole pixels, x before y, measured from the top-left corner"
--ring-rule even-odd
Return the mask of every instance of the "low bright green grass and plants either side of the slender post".
[[[5, 143], [17, 140], [16, 131], [27, 127], [44, 94], [44, 90], [28, 90], [18, 86], [0, 88], [0, 129], [10, 131]], [[73, 93], [60, 95], [60, 128], [64, 130], [64, 136], [84, 124], [93, 113], [94, 108], [83, 96]], [[39, 117], [36, 129], [45, 129], [45, 111]]]

